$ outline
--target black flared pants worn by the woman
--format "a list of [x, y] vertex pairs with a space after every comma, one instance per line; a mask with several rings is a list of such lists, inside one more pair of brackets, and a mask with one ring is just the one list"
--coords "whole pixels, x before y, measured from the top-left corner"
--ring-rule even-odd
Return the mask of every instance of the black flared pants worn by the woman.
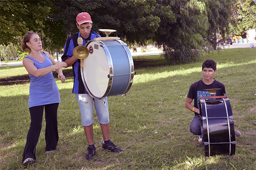
[[39, 139], [39, 135], [42, 129], [42, 117], [43, 110], [45, 107], [45, 151], [55, 150], [58, 143], [58, 121], [57, 121], [57, 110], [58, 103], [47, 104], [42, 106], [30, 107], [31, 123], [29, 132], [27, 135], [27, 142], [23, 153], [22, 162], [28, 158], [32, 157], [36, 159], [36, 144]]

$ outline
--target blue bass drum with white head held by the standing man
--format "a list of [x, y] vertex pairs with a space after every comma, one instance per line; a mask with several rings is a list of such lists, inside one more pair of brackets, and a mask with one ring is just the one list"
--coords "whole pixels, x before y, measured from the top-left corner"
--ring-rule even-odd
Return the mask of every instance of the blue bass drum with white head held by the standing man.
[[134, 66], [130, 50], [119, 39], [91, 40], [83, 59], [81, 76], [87, 92], [93, 98], [125, 95], [132, 83]]

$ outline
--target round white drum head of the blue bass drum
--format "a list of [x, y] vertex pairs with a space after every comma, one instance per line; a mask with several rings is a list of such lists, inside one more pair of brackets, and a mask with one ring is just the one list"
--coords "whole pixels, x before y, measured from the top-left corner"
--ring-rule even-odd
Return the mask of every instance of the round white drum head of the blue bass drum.
[[109, 78], [109, 63], [103, 47], [98, 41], [90, 41], [87, 44], [89, 55], [84, 59], [84, 79], [87, 91], [93, 94], [94, 98], [104, 96]]

